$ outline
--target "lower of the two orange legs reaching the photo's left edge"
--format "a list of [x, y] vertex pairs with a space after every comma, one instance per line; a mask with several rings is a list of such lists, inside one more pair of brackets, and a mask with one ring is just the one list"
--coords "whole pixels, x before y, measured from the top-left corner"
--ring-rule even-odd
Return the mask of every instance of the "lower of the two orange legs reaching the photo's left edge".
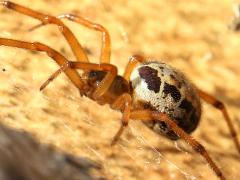
[[[64, 66], [68, 62], [68, 60], [59, 52], [39, 42], [30, 43], [19, 40], [0, 38], [0, 46], [1, 45], [45, 52], [59, 66]], [[83, 88], [83, 82], [77, 71], [74, 69], [67, 69], [65, 73], [69, 77], [69, 79], [73, 82], [73, 84], [81, 91], [81, 89]]]

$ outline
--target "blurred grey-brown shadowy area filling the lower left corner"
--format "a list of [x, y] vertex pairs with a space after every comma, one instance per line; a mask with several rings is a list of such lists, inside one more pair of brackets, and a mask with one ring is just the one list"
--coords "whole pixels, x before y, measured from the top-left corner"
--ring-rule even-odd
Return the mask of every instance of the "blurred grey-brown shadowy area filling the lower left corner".
[[0, 154], [1, 179], [105, 179], [98, 177], [102, 176], [99, 164], [40, 144], [30, 134], [1, 123]]

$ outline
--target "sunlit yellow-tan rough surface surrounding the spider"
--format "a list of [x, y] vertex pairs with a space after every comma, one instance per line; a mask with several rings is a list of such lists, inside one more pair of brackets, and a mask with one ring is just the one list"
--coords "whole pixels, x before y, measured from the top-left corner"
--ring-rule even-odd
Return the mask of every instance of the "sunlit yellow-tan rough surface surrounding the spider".
[[[19, 0], [35, 10], [59, 15], [71, 12], [104, 25], [112, 38], [112, 63], [120, 73], [130, 55], [142, 53], [184, 72], [198, 87], [226, 103], [240, 130], [240, 34], [228, 29], [230, 0]], [[100, 34], [64, 21], [98, 61]], [[38, 21], [0, 7], [0, 36], [40, 41], [74, 60], [52, 25], [27, 32]], [[0, 47], [0, 120], [24, 129], [42, 143], [102, 164], [108, 179], [217, 179], [206, 162], [184, 141], [174, 143], [140, 122], [115, 147], [110, 141], [120, 113], [79, 97], [61, 75], [46, 90], [39, 87], [58, 67], [44, 53]], [[240, 176], [237, 154], [221, 113], [203, 103], [199, 128], [192, 134], [209, 151], [227, 179]], [[239, 135], [239, 133], [238, 133]], [[240, 137], [239, 137], [240, 138]]]

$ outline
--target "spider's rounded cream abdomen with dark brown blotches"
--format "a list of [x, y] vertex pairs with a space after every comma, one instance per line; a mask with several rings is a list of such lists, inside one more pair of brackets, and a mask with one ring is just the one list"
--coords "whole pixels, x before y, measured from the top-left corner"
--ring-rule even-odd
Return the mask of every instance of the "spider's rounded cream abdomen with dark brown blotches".
[[[164, 63], [147, 62], [133, 70], [130, 82], [136, 109], [150, 108], [166, 113], [187, 133], [197, 127], [201, 116], [200, 100], [181, 72]], [[164, 122], [153, 120], [145, 124], [170, 139], [178, 139]]]

